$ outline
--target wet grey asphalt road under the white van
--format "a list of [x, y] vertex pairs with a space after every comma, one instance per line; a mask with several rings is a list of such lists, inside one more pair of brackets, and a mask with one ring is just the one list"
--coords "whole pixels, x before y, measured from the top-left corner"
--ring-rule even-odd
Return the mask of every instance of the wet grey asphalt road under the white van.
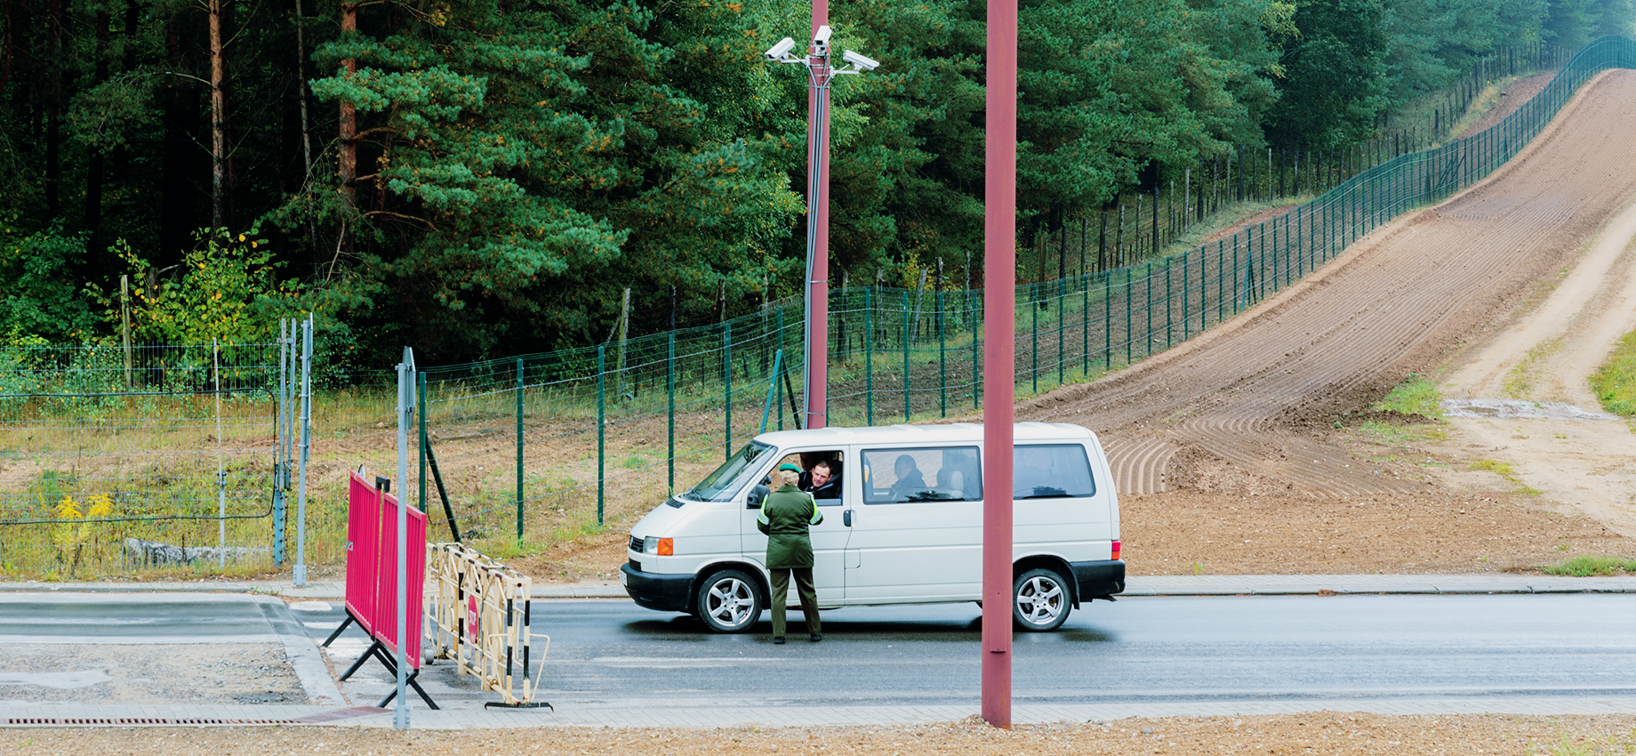
[[[314, 637], [340, 604], [296, 604]], [[712, 635], [625, 601], [537, 602], [551, 635], [542, 699], [579, 705], [936, 705], [978, 691], [978, 609], [825, 612], [823, 643]], [[1625, 596], [1232, 596], [1096, 602], [1054, 633], [1018, 635], [1019, 704], [1636, 695], [1636, 602]], [[348, 630], [352, 635], [353, 630]], [[345, 648], [362, 651], [363, 638]], [[342, 661], [342, 659], [337, 659]], [[373, 664], [371, 664], [373, 666]], [[360, 673], [353, 699], [389, 689]], [[425, 669], [443, 705], [492, 700]], [[371, 677], [373, 676], [373, 677]]]

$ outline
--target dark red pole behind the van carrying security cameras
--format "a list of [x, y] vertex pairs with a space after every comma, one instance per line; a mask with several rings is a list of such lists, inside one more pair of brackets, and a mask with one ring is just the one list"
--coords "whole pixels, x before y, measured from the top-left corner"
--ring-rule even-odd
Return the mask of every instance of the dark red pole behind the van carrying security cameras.
[[[813, 0], [813, 29], [829, 23], [829, 0]], [[811, 52], [811, 34], [807, 36]], [[807, 412], [805, 427], [825, 427], [829, 419], [829, 57], [811, 56], [807, 88], [807, 173], [811, 190], [807, 214], [811, 244], [807, 250]], [[816, 177], [815, 177], [816, 173]]]

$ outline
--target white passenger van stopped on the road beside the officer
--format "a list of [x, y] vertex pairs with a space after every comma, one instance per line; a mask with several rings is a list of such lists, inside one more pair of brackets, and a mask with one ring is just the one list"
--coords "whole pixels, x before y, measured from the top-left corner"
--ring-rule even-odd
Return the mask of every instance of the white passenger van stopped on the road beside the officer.
[[[1124, 591], [1119, 499], [1096, 434], [1019, 422], [1014, 439], [1011, 614], [1022, 630], [1054, 630], [1081, 601]], [[766, 479], [782, 463], [823, 461], [839, 486], [818, 497], [823, 524], [811, 529], [820, 609], [975, 602], [982, 445], [977, 424], [761, 434], [631, 529], [620, 583], [643, 607], [749, 630], [767, 607], [767, 537], [756, 529]]]

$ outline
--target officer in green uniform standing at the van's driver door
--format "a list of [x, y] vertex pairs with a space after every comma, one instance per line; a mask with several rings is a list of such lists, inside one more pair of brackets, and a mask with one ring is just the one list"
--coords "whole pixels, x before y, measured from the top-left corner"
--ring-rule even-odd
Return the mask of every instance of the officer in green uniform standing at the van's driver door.
[[767, 496], [756, 515], [756, 529], [767, 533], [767, 571], [772, 573], [772, 641], [784, 643], [784, 602], [790, 594], [790, 578], [802, 597], [802, 615], [813, 643], [823, 640], [818, 620], [818, 591], [813, 587], [813, 542], [808, 529], [823, 522], [818, 501], [795, 486], [802, 468], [779, 465], [782, 486]]

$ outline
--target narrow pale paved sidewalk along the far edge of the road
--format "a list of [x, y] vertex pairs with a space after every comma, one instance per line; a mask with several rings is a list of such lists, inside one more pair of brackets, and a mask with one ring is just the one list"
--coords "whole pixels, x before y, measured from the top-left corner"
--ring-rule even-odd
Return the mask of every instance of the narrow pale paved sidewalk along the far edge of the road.
[[[294, 587], [278, 581], [175, 583], [0, 583], [0, 592], [255, 592], [288, 599], [340, 599], [345, 584], [314, 581]], [[1315, 596], [1315, 594], [1564, 594], [1636, 592], [1636, 576], [1561, 578], [1553, 574], [1152, 574], [1132, 576], [1121, 597], [1137, 596]], [[535, 599], [625, 599], [615, 581], [535, 584]]]

